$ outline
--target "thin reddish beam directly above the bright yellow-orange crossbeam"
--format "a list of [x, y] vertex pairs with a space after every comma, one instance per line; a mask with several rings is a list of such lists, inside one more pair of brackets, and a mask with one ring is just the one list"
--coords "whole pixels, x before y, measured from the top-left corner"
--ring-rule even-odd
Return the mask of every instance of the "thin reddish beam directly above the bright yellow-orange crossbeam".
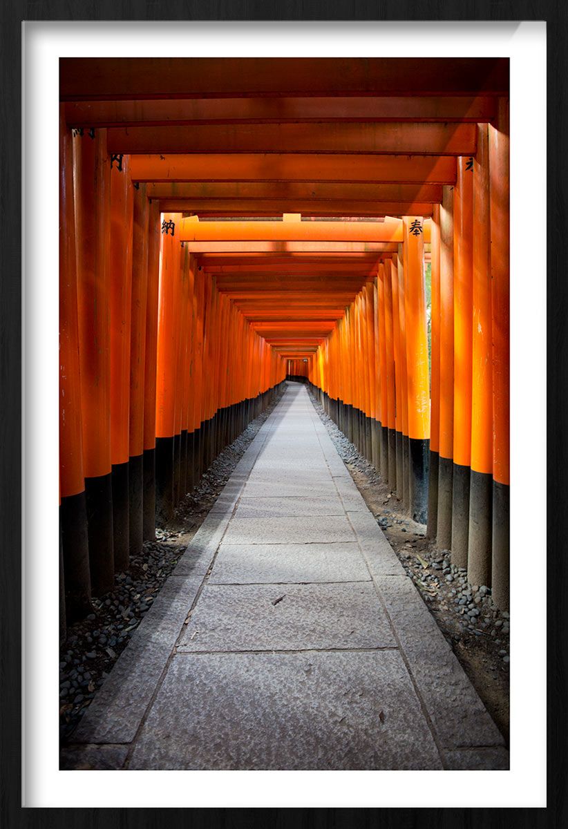
[[431, 216], [430, 201], [347, 201], [323, 199], [160, 199], [163, 213], [193, 213], [196, 216]]

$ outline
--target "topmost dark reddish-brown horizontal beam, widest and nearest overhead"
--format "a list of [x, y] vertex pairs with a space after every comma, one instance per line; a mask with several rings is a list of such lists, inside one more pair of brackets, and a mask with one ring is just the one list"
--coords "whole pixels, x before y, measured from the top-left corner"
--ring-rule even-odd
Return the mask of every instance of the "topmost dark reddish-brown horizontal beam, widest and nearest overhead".
[[61, 58], [62, 100], [507, 95], [507, 58]]

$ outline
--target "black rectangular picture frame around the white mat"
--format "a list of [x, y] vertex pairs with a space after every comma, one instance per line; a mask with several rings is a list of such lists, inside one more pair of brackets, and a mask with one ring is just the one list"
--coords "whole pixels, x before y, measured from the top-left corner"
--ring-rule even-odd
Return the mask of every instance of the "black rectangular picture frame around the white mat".
[[[561, 827], [568, 823], [566, 780], [568, 724], [568, 647], [566, 640], [566, 538], [568, 509], [568, 191], [566, 177], [566, 88], [568, 84], [568, 9], [565, 2], [477, 2], [461, 6], [448, 0], [216, 0], [155, 2], [155, 0], [29, 0], [2, 3], [0, 55], [0, 824], [16, 827], [165, 827], [191, 824], [196, 829], [249, 826], [253, 809], [44, 809], [21, 806], [21, 492], [22, 492], [22, 281], [21, 281], [21, 25], [28, 20], [195, 20], [195, 21], [530, 21], [547, 24], [547, 577], [548, 577], [548, 773], [546, 809], [305, 809], [274, 808], [259, 814], [265, 825], [286, 820], [302, 827]], [[32, 521], [33, 516], [27, 516]], [[536, 531], [544, 531], [537, 528]], [[531, 712], [527, 711], [527, 730]]]

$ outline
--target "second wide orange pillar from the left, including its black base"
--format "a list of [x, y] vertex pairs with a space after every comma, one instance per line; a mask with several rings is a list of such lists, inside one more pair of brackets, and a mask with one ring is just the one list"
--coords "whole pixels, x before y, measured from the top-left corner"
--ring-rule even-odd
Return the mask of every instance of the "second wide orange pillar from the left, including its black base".
[[83, 466], [91, 589], [114, 584], [110, 461], [110, 157], [106, 129], [74, 138]]

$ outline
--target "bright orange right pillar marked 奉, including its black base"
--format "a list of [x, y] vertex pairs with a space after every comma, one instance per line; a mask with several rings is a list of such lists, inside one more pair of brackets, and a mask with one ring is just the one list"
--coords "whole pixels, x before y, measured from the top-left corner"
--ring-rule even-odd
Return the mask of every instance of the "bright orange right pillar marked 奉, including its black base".
[[425, 524], [428, 512], [430, 383], [424, 278], [424, 235], [420, 216], [404, 216], [406, 387], [408, 393], [410, 516]]

